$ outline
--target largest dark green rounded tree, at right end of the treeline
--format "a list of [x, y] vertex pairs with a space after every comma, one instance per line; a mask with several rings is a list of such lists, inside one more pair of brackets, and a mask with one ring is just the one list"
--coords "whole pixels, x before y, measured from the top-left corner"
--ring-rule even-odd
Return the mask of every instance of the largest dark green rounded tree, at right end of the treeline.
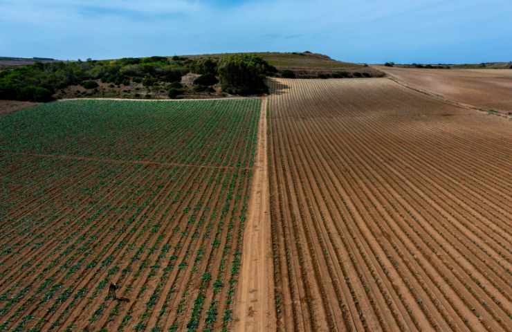
[[237, 95], [267, 93], [265, 78], [270, 65], [257, 55], [229, 55], [219, 63], [224, 92]]

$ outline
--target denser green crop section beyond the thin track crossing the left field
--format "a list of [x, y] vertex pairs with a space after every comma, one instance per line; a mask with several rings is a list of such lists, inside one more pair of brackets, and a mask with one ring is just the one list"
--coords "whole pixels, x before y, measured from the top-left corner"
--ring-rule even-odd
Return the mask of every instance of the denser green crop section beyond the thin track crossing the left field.
[[[0, 117], [0, 150], [221, 165], [255, 142], [259, 100], [42, 104]], [[229, 166], [248, 166], [239, 154]]]

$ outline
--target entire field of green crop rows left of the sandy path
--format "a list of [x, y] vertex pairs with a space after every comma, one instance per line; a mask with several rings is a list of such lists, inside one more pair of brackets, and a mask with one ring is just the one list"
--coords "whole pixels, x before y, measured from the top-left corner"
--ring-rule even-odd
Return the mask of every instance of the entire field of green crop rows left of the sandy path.
[[0, 116], [0, 331], [228, 328], [260, 104]]

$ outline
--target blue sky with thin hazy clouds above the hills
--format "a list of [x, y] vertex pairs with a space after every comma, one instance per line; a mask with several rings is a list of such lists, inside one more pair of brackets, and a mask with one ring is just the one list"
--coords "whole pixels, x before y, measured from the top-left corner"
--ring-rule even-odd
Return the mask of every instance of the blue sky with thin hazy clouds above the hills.
[[0, 56], [311, 50], [349, 62], [512, 61], [512, 0], [0, 0]]

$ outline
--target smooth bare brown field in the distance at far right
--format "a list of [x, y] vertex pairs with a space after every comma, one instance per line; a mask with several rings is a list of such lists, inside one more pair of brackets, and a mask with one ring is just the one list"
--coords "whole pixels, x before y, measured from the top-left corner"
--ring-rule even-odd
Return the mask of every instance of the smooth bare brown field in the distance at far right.
[[377, 66], [399, 82], [486, 111], [512, 113], [511, 69], [420, 69]]

